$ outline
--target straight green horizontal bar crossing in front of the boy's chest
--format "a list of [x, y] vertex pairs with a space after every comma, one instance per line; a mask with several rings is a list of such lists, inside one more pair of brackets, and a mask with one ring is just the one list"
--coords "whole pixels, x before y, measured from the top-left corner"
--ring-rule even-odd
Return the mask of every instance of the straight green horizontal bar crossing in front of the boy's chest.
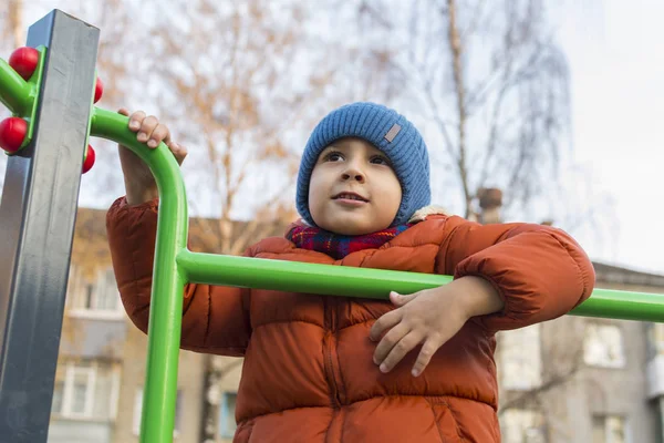
[[[325, 296], [387, 299], [452, 281], [449, 276], [221, 256], [183, 250], [177, 262], [191, 282]], [[664, 322], [664, 295], [595, 289], [573, 316]]]

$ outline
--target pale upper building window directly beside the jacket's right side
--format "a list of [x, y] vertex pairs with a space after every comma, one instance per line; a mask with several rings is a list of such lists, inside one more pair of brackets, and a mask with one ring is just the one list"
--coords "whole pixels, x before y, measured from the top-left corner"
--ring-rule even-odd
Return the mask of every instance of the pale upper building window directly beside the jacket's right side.
[[501, 388], [528, 391], [542, 383], [540, 324], [511, 331], [499, 337]]

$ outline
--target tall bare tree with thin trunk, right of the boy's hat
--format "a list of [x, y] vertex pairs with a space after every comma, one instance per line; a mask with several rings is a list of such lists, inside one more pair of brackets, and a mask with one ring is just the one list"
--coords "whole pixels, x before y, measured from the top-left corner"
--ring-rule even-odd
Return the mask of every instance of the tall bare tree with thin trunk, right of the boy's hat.
[[556, 179], [569, 73], [544, 0], [361, 4], [392, 35], [392, 62], [407, 90], [403, 106], [424, 113], [423, 127], [434, 130], [432, 156], [444, 169], [434, 178], [454, 175], [466, 217], [480, 188], [502, 189], [509, 212]]

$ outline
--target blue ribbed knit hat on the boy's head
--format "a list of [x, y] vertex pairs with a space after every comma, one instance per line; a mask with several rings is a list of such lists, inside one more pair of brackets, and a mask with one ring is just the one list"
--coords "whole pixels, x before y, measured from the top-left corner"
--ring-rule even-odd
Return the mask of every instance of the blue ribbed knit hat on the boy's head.
[[308, 224], [315, 226], [309, 212], [309, 183], [321, 152], [343, 137], [359, 137], [382, 151], [402, 186], [402, 203], [392, 226], [407, 223], [415, 212], [430, 203], [429, 161], [419, 132], [396, 111], [375, 103], [352, 103], [328, 114], [307, 142], [295, 203]]

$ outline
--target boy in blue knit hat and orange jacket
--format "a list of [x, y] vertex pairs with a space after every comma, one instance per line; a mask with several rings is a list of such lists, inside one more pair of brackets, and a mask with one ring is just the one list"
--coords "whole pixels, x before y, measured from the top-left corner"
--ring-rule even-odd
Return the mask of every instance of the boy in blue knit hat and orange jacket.
[[[126, 111], [121, 111], [127, 114]], [[186, 150], [144, 113], [138, 140]], [[125, 309], [147, 330], [158, 202], [121, 147], [126, 198], [107, 216]], [[325, 116], [304, 148], [302, 222], [249, 257], [454, 275], [391, 302], [188, 285], [181, 347], [243, 356], [236, 442], [499, 442], [495, 333], [562, 316], [594, 271], [559, 229], [436, 214], [417, 130], [373, 103]]]

